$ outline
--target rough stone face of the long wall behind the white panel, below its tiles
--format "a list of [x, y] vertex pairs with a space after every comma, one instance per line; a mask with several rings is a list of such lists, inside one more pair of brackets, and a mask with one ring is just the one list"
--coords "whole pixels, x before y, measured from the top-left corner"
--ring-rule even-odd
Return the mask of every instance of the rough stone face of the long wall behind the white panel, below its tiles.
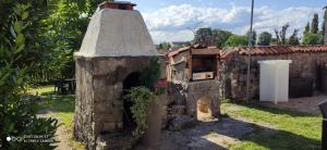
[[[234, 54], [228, 60], [220, 61], [219, 80], [220, 96], [231, 99], [246, 98], [246, 55]], [[289, 53], [276, 55], [252, 55], [251, 59], [251, 98], [259, 96], [259, 64], [263, 60], [292, 60], [290, 64], [290, 77], [313, 78], [316, 83], [317, 64], [327, 63], [326, 52]], [[314, 85], [315, 86], [315, 85]]]

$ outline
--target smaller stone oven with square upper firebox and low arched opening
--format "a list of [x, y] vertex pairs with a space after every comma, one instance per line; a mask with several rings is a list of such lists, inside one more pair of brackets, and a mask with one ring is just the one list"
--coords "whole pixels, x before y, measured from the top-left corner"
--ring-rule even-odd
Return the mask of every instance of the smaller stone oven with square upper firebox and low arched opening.
[[168, 54], [168, 120], [174, 122], [218, 116], [219, 50], [190, 46]]

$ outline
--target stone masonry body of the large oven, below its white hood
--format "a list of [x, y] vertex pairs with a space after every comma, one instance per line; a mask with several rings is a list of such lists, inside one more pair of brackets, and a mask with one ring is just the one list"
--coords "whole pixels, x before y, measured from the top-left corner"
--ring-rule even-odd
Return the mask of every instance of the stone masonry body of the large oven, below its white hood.
[[147, 57], [76, 60], [74, 136], [87, 149], [95, 149], [100, 134], [123, 130], [123, 80], [140, 72], [148, 60]]

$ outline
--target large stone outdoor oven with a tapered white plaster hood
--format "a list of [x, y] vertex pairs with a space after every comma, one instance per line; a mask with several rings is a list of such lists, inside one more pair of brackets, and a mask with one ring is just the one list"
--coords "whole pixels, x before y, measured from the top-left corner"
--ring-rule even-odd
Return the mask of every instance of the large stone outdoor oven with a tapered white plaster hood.
[[104, 2], [92, 16], [76, 59], [74, 136], [88, 149], [129, 149], [131, 103], [125, 89], [138, 86], [140, 71], [155, 45], [135, 4]]

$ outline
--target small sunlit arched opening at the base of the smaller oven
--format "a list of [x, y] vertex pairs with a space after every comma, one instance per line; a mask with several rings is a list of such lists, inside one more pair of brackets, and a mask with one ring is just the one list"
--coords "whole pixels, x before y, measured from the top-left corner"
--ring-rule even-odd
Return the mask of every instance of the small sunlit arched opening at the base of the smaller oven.
[[202, 97], [196, 101], [196, 118], [206, 122], [213, 120], [211, 98]]

